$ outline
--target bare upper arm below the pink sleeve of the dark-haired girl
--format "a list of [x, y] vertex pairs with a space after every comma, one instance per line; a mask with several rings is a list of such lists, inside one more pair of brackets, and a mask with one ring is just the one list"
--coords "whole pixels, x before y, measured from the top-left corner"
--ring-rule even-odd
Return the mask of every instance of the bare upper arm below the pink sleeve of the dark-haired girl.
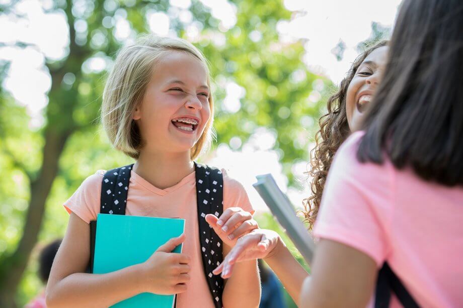
[[373, 293], [377, 268], [368, 255], [322, 239], [301, 290], [300, 307], [365, 307]]

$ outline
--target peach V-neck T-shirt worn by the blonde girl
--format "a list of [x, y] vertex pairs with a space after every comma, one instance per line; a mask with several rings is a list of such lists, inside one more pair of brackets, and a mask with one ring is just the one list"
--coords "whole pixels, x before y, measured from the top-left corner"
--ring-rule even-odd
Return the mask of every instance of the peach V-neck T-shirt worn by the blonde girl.
[[[86, 223], [97, 218], [97, 214], [100, 212], [101, 181], [104, 173], [104, 170], [99, 170], [89, 176], [64, 203], [69, 213], [75, 213]], [[222, 170], [222, 174], [223, 210], [230, 207], [240, 207], [245, 211], [254, 213], [243, 186], [238, 181], [228, 177], [225, 170]], [[188, 290], [179, 294], [177, 307], [213, 308], [214, 303], [201, 259], [195, 182], [195, 172], [192, 172], [176, 185], [159, 189], [132, 170], [126, 215], [185, 219], [187, 239], [182, 249], [183, 253], [191, 257], [191, 280], [187, 283]]]

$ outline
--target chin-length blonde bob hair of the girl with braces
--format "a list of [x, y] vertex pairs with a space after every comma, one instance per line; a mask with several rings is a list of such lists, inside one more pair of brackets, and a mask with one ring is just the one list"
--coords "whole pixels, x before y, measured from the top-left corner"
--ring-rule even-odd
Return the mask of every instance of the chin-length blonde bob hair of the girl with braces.
[[[206, 69], [210, 88], [208, 63], [204, 55], [191, 43], [180, 38], [163, 38], [142, 35], [135, 44], [119, 51], [103, 92], [101, 120], [103, 129], [114, 148], [137, 159], [143, 146], [140, 132], [132, 119], [133, 112], [143, 99], [153, 67], [167, 52], [181, 51], [198, 58]], [[211, 114], [198, 142], [190, 150], [193, 160], [210, 145], [214, 102], [209, 95]]]

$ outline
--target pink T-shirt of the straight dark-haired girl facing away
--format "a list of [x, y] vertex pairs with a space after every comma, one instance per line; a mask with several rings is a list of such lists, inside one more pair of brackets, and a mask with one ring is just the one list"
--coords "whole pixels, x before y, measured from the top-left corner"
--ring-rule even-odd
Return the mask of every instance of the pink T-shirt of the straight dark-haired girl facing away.
[[463, 305], [463, 187], [426, 182], [412, 170], [357, 161], [354, 133], [330, 169], [315, 226], [378, 268], [387, 261], [423, 307]]

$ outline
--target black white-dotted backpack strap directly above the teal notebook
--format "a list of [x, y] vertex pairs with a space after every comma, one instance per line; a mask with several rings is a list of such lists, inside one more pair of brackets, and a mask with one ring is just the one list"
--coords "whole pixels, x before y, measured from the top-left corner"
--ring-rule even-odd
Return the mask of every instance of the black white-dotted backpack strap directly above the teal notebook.
[[125, 215], [132, 166], [106, 171], [101, 182], [101, 214]]

